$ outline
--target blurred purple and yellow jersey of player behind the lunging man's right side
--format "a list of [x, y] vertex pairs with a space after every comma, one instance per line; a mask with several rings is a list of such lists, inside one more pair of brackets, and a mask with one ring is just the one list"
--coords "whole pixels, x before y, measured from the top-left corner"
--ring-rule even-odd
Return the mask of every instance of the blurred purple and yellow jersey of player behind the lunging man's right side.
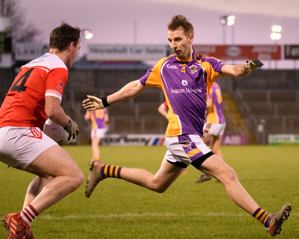
[[222, 111], [222, 95], [219, 85], [215, 82], [208, 96], [213, 100], [213, 106], [208, 108], [207, 122], [208, 124], [225, 123], [225, 118]]

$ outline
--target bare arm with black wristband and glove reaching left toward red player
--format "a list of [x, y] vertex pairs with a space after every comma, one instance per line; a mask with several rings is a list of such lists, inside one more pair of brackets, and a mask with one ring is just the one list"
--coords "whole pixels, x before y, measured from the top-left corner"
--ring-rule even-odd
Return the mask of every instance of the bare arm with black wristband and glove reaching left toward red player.
[[87, 97], [89, 98], [83, 101], [83, 107], [88, 109], [88, 111], [104, 109], [111, 104], [138, 96], [146, 88], [146, 86], [141, 85], [139, 80], [135, 80], [125, 85], [118, 92], [115, 92], [105, 98], [88, 95]]

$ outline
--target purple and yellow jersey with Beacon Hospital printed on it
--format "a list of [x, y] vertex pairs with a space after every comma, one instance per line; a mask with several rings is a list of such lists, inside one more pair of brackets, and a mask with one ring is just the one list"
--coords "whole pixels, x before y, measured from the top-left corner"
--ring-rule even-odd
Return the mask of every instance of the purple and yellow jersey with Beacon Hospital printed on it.
[[192, 58], [167, 56], [139, 79], [144, 86], [164, 91], [169, 107], [166, 137], [203, 134], [207, 97], [213, 82], [222, 76], [223, 65], [219, 59], [202, 56], [193, 49]]

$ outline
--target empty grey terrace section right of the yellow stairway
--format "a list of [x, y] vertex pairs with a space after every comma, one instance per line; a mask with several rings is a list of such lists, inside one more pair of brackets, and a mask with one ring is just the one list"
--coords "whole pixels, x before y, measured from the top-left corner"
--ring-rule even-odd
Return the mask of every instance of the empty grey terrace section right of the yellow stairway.
[[237, 88], [234, 95], [257, 143], [266, 144], [268, 134], [299, 133], [299, 90]]

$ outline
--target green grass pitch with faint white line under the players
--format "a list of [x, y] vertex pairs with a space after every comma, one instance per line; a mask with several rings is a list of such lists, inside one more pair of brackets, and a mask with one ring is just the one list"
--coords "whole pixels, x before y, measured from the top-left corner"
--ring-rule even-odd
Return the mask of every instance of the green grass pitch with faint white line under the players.
[[[91, 146], [64, 149], [89, 174]], [[298, 147], [222, 146], [225, 162], [237, 172], [248, 193], [267, 212], [275, 213], [291, 203], [291, 216], [280, 238], [299, 238]], [[100, 147], [106, 163], [158, 171], [166, 147]], [[0, 163], [0, 215], [22, 209], [25, 193], [34, 175]], [[212, 179], [194, 183], [200, 172], [187, 167], [163, 194], [123, 180], [100, 182], [86, 198], [84, 184], [59, 203], [42, 212], [33, 222], [38, 238], [103, 239], [197, 239], [269, 238], [264, 226], [236, 206], [224, 186]], [[6, 238], [4, 228], [0, 238]]]

